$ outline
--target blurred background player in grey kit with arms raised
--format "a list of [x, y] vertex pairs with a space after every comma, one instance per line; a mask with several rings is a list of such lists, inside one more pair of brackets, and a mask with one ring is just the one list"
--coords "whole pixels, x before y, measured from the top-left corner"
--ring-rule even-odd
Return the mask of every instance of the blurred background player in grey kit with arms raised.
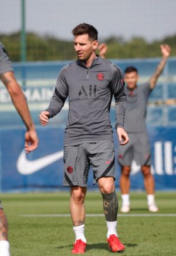
[[155, 88], [157, 79], [163, 71], [168, 56], [170, 56], [170, 47], [168, 45], [161, 45], [161, 52], [163, 59], [151, 76], [150, 81], [145, 84], [137, 85], [138, 72], [136, 68], [127, 67], [125, 70], [127, 110], [124, 128], [128, 132], [130, 142], [124, 147], [120, 146], [118, 151], [119, 164], [121, 165], [121, 212], [130, 211], [130, 171], [133, 159], [138, 165], [141, 165], [144, 185], [147, 192], [148, 210], [151, 212], [158, 211], [154, 200], [154, 178], [150, 172], [150, 143], [145, 127], [145, 114], [147, 111], [148, 97]]

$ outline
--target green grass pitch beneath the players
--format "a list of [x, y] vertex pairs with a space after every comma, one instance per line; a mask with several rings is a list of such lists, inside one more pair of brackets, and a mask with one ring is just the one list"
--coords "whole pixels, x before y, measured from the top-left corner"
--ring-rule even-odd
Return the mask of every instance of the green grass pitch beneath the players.
[[[121, 205], [120, 192], [119, 205]], [[118, 234], [125, 255], [176, 254], [175, 192], [157, 192], [158, 214], [150, 214], [144, 192], [131, 192], [130, 214], [119, 214]], [[75, 236], [69, 217], [69, 192], [1, 194], [9, 222], [11, 256], [71, 255]], [[86, 195], [87, 255], [111, 255], [101, 195]]]

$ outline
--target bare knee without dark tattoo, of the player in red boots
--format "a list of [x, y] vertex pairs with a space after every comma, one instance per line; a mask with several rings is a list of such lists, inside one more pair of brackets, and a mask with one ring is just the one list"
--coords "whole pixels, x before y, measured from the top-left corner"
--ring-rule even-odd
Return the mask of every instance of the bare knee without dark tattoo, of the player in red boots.
[[75, 204], [82, 204], [84, 202], [84, 198], [86, 196], [87, 189], [84, 187], [75, 186], [71, 188], [70, 200], [74, 201]]

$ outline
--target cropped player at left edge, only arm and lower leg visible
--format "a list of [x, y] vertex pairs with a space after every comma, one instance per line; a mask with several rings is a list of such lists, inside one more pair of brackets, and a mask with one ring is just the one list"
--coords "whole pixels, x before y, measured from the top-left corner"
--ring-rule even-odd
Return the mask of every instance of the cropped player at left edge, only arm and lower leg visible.
[[[12, 102], [21, 115], [23, 122], [26, 125], [27, 131], [25, 133], [25, 151], [29, 153], [38, 147], [38, 136], [35, 131], [35, 126], [31, 115], [29, 113], [28, 104], [21, 87], [15, 79], [13, 74], [12, 64], [9, 56], [0, 42], [0, 79], [8, 89]], [[4, 214], [0, 201], [0, 255], [9, 256], [9, 242], [8, 242], [8, 222]]]

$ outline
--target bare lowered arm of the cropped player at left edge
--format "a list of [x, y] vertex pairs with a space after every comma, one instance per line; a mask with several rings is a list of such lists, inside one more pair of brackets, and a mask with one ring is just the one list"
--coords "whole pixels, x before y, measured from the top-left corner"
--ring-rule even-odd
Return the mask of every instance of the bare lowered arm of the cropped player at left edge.
[[29, 153], [38, 147], [38, 136], [35, 131], [35, 126], [29, 112], [25, 95], [16, 81], [13, 72], [5, 72], [0, 76], [0, 78], [11, 96], [13, 105], [26, 125], [27, 132], [25, 134], [25, 151]]

